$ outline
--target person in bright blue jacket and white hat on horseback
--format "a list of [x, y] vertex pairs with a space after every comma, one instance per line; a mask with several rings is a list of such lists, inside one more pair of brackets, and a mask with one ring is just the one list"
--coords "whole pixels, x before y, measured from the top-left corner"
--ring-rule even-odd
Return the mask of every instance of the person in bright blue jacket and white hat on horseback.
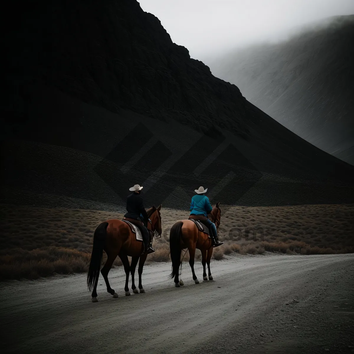
[[208, 218], [208, 214], [212, 211], [212, 206], [210, 205], [209, 198], [204, 195], [207, 191], [207, 188], [199, 187], [195, 189], [196, 195], [193, 196], [192, 202], [190, 203], [190, 216], [189, 219], [199, 220], [202, 223], [206, 224], [211, 230], [213, 247], [218, 247], [224, 242], [219, 242], [218, 232], [215, 224]]

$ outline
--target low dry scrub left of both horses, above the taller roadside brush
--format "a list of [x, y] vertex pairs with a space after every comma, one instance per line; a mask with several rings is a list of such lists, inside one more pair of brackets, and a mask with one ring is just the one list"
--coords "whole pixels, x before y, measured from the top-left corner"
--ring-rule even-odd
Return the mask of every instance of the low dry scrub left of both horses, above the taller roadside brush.
[[122, 215], [96, 210], [1, 205], [0, 249], [56, 246], [91, 253], [95, 228], [109, 218], [122, 218]]

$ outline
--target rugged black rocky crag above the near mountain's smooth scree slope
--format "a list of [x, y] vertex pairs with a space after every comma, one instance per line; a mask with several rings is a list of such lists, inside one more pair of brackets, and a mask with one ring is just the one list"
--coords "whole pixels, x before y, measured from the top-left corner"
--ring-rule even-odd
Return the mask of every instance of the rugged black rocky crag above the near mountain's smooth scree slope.
[[23, 80], [18, 72], [22, 67], [27, 82], [42, 80], [116, 113], [132, 109], [161, 120], [169, 116], [197, 130], [217, 123], [246, 134], [238, 88], [191, 59], [138, 2], [47, 1], [27, 6], [22, 16], [12, 18], [13, 33], [6, 42], [11, 53], [7, 77], [11, 94], [22, 103], [18, 109], [26, 103], [13, 82]]

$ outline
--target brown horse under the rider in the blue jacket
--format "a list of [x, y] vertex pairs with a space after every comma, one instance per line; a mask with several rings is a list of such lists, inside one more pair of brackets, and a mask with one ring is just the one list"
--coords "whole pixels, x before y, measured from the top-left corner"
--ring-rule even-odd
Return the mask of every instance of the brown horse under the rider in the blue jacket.
[[[208, 215], [208, 218], [215, 223], [216, 228], [220, 225], [221, 218], [221, 209], [219, 208], [219, 202], [216, 203], [216, 206], [213, 207], [211, 213]], [[195, 223], [192, 220], [182, 220], [176, 222], [170, 231], [170, 253], [172, 261], [172, 273], [170, 278], [175, 278], [175, 285], [183, 285], [183, 281], [178, 281], [178, 270], [181, 265], [181, 251], [182, 249], [188, 248], [189, 251], [189, 265], [192, 268], [193, 280], [195, 284], [199, 284], [194, 273], [194, 256], [195, 249], [199, 249], [202, 255], [203, 264], [203, 280], [208, 280], [206, 277], [205, 264], [208, 265], [209, 270], [209, 280], [213, 280], [213, 277], [210, 272], [210, 259], [213, 254], [213, 244], [211, 239], [204, 232], [201, 232], [196, 227]]]

